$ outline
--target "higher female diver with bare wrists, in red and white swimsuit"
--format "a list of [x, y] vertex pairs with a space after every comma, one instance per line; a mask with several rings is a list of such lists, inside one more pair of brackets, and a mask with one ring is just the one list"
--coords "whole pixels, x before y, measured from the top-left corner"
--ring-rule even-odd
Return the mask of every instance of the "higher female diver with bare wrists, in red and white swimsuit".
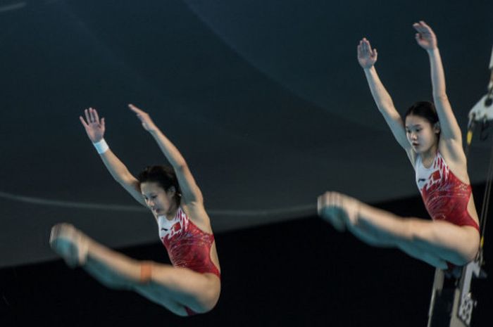
[[[462, 148], [461, 130], [445, 92], [437, 38], [423, 21], [415, 23], [416, 41], [430, 58], [433, 103], [418, 102], [403, 122], [375, 70], [377, 50], [362, 39], [358, 62], [380, 113], [416, 170], [416, 183], [432, 221], [397, 217], [336, 192], [318, 198], [318, 212], [339, 231], [349, 229], [375, 246], [394, 246], [408, 255], [447, 269], [475, 258], [480, 234], [478, 214]], [[435, 109], [436, 107], [436, 109]]]

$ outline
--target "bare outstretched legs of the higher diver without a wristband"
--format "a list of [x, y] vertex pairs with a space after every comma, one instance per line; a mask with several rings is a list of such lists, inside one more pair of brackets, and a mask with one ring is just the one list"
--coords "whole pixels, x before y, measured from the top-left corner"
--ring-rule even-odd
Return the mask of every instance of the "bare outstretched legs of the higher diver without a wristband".
[[434, 267], [446, 269], [446, 262], [466, 264], [478, 252], [479, 235], [470, 226], [418, 218], [404, 219], [335, 192], [321, 195], [318, 202], [319, 214], [324, 217], [333, 214], [333, 208], [337, 208], [339, 225], [342, 220], [349, 231], [366, 243], [373, 245], [372, 241], [375, 240], [371, 237], [378, 236], [383, 244], [400, 248]]

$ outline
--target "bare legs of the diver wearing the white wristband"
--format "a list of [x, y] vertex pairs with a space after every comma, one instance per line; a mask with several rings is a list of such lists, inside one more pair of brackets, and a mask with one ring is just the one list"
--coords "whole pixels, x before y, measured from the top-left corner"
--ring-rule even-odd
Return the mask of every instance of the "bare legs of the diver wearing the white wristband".
[[[74, 234], [78, 238], [74, 238]], [[71, 244], [73, 250], [64, 250], [66, 244]], [[169, 264], [144, 262], [150, 266], [151, 275], [148, 281], [141, 281], [143, 262], [96, 243], [70, 225], [54, 226], [51, 246], [68, 262], [73, 260], [78, 248], [87, 248], [87, 259], [82, 261], [82, 267], [94, 278], [111, 288], [135, 290], [180, 316], [187, 315], [185, 307], [198, 313], [208, 312], [218, 301], [220, 281], [217, 276]]]

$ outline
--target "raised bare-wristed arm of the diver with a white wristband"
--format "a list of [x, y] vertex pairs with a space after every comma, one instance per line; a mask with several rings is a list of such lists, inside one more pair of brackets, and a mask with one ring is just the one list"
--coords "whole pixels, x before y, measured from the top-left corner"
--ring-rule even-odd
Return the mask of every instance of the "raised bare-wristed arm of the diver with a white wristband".
[[156, 127], [156, 124], [151, 120], [149, 114], [140, 110], [135, 105], [130, 104], [128, 107], [142, 122], [142, 127], [154, 137], [159, 148], [163, 151], [164, 156], [168, 159], [171, 166], [173, 166], [173, 169], [175, 169], [178, 184], [180, 184], [182, 190], [182, 200], [185, 201], [185, 204], [204, 203], [200, 188], [196, 185], [195, 179], [180, 151], [178, 151], [173, 143], [171, 143], [161, 130]]

